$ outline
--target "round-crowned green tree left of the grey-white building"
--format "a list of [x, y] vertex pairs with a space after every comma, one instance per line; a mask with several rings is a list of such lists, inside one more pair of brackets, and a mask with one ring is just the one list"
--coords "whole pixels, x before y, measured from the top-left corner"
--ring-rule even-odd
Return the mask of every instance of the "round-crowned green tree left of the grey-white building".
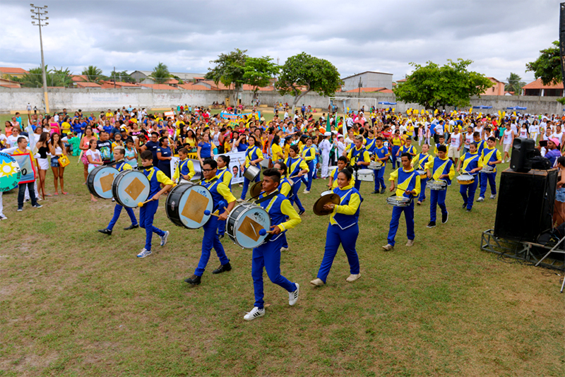
[[331, 96], [341, 88], [342, 80], [338, 68], [326, 59], [301, 52], [285, 61], [275, 84], [280, 95], [294, 95], [292, 112], [300, 98], [309, 92]]

